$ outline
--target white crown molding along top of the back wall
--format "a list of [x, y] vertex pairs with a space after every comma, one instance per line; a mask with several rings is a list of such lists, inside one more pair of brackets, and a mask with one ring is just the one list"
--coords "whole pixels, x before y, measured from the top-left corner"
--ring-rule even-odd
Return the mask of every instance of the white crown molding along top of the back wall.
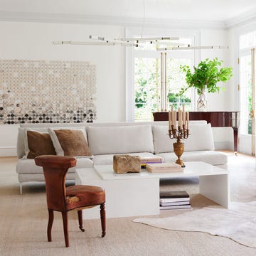
[[0, 21], [41, 22], [41, 23], [80, 23], [116, 26], [151, 26], [161, 28], [220, 28], [222, 21], [177, 20], [164, 18], [125, 18], [118, 16], [82, 16], [74, 14], [41, 14], [0, 11]]

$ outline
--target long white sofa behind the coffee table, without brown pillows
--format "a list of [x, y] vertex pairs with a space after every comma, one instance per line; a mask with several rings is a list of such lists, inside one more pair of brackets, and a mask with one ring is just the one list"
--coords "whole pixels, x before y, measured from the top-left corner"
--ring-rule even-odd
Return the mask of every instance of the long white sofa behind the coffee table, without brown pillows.
[[[43, 169], [26, 156], [29, 151], [27, 132], [48, 134], [51, 129], [82, 130], [92, 156], [78, 156], [76, 168], [91, 167], [94, 164], [112, 164], [114, 154], [131, 154], [141, 157], [161, 156], [164, 161], [176, 161], [173, 143], [169, 139], [167, 122], [115, 122], [86, 124], [21, 124], [18, 130], [16, 172], [22, 193], [23, 183], [44, 181]], [[206, 121], [191, 121], [190, 136], [185, 139], [183, 161], [205, 161], [213, 165], [227, 164], [227, 156], [215, 151], [213, 132]], [[52, 137], [53, 139], [53, 137]], [[40, 146], [38, 144], [38, 146]], [[53, 143], [55, 147], [55, 143]], [[56, 148], [55, 148], [56, 149]], [[58, 154], [60, 153], [56, 149]], [[75, 180], [75, 168], [68, 170], [67, 181]]]

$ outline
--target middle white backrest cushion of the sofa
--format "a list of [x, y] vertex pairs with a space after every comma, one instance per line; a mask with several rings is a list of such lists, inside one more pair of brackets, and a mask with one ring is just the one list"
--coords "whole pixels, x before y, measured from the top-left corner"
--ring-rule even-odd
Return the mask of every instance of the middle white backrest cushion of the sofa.
[[87, 127], [91, 152], [97, 154], [154, 153], [151, 125]]

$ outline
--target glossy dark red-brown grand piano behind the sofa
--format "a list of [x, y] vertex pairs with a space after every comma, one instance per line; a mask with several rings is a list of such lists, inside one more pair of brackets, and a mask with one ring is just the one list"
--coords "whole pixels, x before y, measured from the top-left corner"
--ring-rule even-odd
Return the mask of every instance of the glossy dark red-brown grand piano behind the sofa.
[[[153, 112], [154, 121], [168, 121], [168, 112]], [[206, 120], [212, 127], [232, 127], [234, 151], [238, 151], [238, 112], [189, 112], [190, 120]]]

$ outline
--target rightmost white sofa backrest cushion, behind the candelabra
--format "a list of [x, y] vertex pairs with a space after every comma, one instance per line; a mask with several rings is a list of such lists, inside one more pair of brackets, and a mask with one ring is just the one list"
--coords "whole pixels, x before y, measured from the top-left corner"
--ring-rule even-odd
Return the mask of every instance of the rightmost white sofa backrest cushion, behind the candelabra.
[[[168, 126], [154, 125], [153, 128], [155, 154], [174, 151], [176, 139], [170, 139]], [[213, 131], [210, 124], [191, 124], [189, 136], [182, 139], [184, 151], [214, 150]]]

